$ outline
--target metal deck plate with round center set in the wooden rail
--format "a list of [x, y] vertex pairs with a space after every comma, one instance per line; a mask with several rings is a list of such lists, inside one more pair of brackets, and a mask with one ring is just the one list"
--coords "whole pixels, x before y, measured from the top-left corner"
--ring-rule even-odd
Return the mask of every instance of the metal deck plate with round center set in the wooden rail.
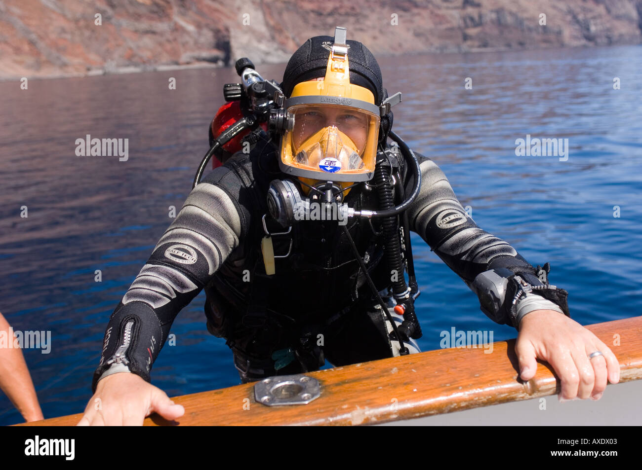
[[268, 407], [306, 405], [319, 396], [318, 380], [303, 374], [270, 377], [254, 385], [254, 398]]

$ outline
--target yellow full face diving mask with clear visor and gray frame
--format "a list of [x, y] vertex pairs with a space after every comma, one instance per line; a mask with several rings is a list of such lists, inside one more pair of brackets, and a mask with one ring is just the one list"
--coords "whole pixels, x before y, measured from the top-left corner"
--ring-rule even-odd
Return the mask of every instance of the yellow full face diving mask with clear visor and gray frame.
[[285, 108], [293, 125], [281, 139], [283, 172], [310, 185], [337, 181], [343, 188], [372, 178], [379, 107], [369, 89], [350, 83], [345, 44], [335, 42], [324, 79], [297, 84]]

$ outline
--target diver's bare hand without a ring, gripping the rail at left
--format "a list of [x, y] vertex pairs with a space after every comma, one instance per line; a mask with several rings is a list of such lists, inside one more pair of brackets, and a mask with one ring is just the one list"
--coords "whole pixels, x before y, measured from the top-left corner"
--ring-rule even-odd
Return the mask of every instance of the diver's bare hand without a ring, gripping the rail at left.
[[119, 372], [98, 382], [76, 426], [143, 426], [145, 417], [153, 412], [171, 421], [182, 416], [185, 409], [136, 374]]

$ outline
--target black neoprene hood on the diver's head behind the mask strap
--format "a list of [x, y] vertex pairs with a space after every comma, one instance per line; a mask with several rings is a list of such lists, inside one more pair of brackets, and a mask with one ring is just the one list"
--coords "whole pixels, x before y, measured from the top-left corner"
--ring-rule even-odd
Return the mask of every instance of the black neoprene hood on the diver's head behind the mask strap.
[[[283, 72], [281, 89], [287, 97], [297, 83], [324, 77], [330, 47], [334, 43], [331, 36], [309, 38], [291, 56]], [[374, 102], [381, 105], [384, 96], [381, 70], [374, 55], [361, 42], [347, 40], [350, 83], [368, 88], [374, 94]]]

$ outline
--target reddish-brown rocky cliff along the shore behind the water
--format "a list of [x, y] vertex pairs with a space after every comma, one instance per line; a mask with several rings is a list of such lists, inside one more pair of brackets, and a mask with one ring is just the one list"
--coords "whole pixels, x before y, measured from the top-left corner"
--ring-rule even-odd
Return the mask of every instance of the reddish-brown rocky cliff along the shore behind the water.
[[0, 0], [0, 78], [286, 62], [334, 26], [376, 54], [638, 44], [642, 0]]

